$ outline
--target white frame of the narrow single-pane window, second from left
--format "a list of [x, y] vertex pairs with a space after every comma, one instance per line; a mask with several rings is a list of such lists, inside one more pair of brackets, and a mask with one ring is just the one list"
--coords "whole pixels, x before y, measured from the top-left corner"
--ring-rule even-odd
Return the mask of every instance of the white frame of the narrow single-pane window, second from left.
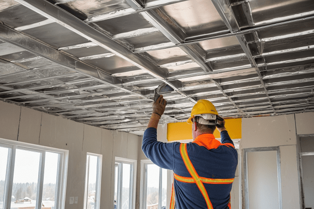
[[87, 152], [86, 154], [86, 173], [85, 173], [85, 189], [84, 189], [84, 209], [87, 209], [88, 200], [88, 179], [89, 179], [89, 168], [90, 168], [90, 156], [97, 157], [97, 176], [96, 176], [96, 195], [95, 195], [95, 207], [94, 209], [100, 208], [100, 188], [101, 188], [101, 171], [102, 171], [102, 161], [103, 155]]

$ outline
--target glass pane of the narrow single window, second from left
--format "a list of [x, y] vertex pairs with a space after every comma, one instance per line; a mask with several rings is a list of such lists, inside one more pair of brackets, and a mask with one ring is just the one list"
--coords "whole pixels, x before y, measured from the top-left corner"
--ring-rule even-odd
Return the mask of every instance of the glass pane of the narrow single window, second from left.
[[97, 156], [90, 155], [87, 209], [94, 209], [96, 202]]

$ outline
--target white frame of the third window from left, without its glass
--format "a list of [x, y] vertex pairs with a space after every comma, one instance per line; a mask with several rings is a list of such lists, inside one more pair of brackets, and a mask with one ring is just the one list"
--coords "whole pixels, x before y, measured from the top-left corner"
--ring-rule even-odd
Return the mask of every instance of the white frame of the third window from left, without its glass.
[[[131, 169], [130, 169], [130, 208], [134, 209], [135, 208], [135, 195], [136, 195], [136, 168], [137, 168], [137, 160], [132, 160], [132, 159], [127, 159], [127, 158], [121, 158], [121, 157], [115, 157], [115, 163], [125, 163], [125, 164], [130, 164]], [[116, 165], [115, 165], [116, 166]], [[114, 169], [115, 170], [115, 169]], [[118, 190], [117, 190], [117, 202], [121, 201], [121, 194], [122, 194], [122, 176], [123, 170], [122, 166], [118, 167]], [[115, 188], [115, 185], [114, 185]], [[118, 205], [118, 204], [117, 204]], [[119, 204], [121, 205], [121, 204]], [[121, 208], [117, 208], [121, 209]]]

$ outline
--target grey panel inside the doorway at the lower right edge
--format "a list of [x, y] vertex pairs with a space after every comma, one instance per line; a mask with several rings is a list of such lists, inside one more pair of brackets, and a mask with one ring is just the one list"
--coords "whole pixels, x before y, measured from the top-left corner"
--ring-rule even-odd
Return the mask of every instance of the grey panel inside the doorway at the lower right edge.
[[303, 191], [305, 208], [314, 208], [314, 155], [302, 156]]

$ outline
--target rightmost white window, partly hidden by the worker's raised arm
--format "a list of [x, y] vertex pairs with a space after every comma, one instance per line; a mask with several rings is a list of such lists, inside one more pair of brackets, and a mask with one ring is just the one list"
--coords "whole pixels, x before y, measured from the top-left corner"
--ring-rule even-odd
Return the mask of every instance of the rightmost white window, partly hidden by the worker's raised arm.
[[164, 209], [167, 205], [167, 169], [141, 160], [141, 209]]

